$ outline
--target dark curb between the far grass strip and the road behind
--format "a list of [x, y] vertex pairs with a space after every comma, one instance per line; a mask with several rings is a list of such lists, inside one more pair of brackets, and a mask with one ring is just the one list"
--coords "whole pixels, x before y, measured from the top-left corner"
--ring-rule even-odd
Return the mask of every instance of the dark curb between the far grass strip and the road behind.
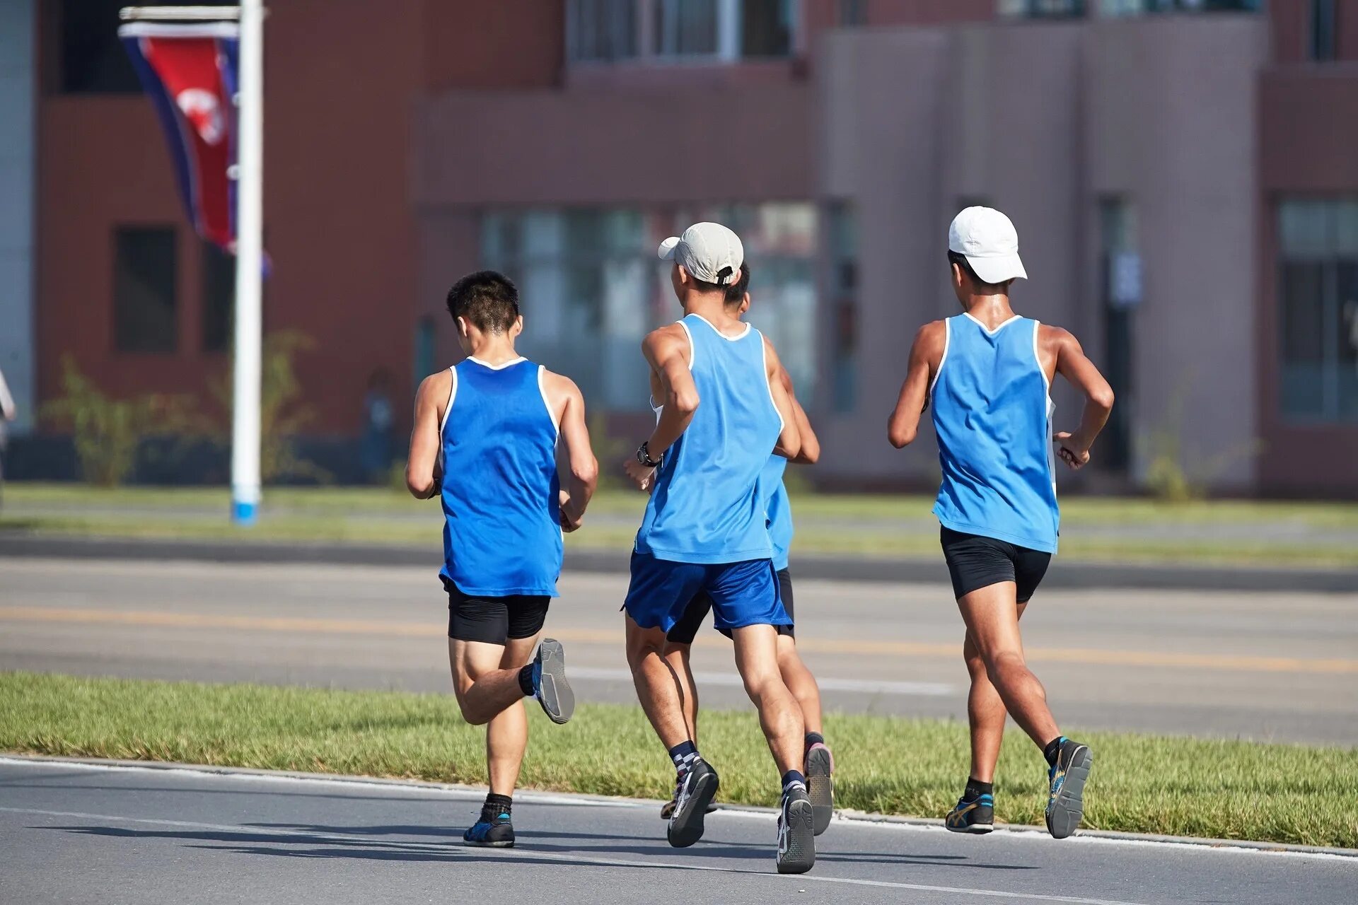
[[[0, 532], [0, 556], [52, 559], [130, 559], [212, 563], [308, 563], [350, 566], [424, 566], [436, 569], [436, 547], [380, 544], [221, 543], [200, 540], [137, 540], [125, 537], [64, 537], [27, 532]], [[568, 550], [568, 571], [626, 574], [629, 554], [606, 550]], [[948, 583], [942, 556], [885, 559], [881, 556], [799, 555], [797, 578]], [[1358, 570], [1251, 569], [1181, 566], [1172, 563], [1099, 563], [1055, 559], [1043, 588], [1099, 590], [1264, 590], [1358, 593]]]

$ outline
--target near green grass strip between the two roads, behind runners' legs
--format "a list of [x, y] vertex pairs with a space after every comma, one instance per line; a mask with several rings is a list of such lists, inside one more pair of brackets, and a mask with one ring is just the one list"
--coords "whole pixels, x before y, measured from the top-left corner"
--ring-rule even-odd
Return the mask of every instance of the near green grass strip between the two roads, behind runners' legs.
[[[636, 707], [585, 704], [565, 726], [530, 707], [521, 786], [667, 798], [671, 772]], [[773, 805], [777, 780], [750, 712], [706, 712], [720, 801]], [[967, 775], [966, 726], [828, 715], [841, 807], [942, 817]], [[1096, 754], [1085, 825], [1358, 848], [1358, 749], [1080, 734]], [[42, 754], [486, 782], [482, 730], [451, 695], [198, 685], [0, 673], [0, 749]], [[1040, 753], [1005, 739], [997, 817], [1040, 824]]]

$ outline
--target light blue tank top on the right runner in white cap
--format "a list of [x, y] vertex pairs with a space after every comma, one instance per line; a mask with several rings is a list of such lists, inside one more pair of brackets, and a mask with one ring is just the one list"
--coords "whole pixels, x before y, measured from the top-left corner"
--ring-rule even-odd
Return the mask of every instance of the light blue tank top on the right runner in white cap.
[[1051, 398], [1038, 358], [1038, 322], [1014, 316], [994, 332], [970, 315], [947, 322], [930, 392], [944, 528], [1057, 552]]

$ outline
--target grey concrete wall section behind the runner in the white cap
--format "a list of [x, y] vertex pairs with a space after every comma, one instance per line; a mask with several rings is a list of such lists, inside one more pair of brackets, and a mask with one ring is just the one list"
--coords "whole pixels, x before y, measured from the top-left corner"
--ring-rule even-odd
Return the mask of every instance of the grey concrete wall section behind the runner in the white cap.
[[[1120, 403], [1134, 436], [1183, 393], [1195, 461], [1248, 448], [1255, 274], [1241, 265], [1255, 248], [1256, 167], [1238, 136], [1253, 122], [1266, 41], [1263, 20], [1232, 15], [830, 34], [820, 186], [858, 210], [861, 316], [860, 408], [828, 419], [824, 471], [883, 483], [932, 474], [928, 438], [906, 455], [879, 438], [915, 327], [956, 312], [944, 250], [963, 198], [1019, 228], [1031, 280], [1016, 286], [1016, 309], [1074, 330], [1096, 362], [1099, 201], [1130, 199], [1145, 271], [1135, 392]], [[1078, 400], [1059, 391], [1057, 404], [1073, 426]], [[1224, 486], [1252, 476], [1244, 455], [1213, 475]]]

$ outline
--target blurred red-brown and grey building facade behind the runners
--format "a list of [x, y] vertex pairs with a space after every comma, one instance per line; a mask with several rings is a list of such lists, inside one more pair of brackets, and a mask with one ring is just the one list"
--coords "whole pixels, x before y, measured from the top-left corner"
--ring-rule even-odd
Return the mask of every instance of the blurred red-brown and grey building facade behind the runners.
[[[35, 213], [0, 202], [35, 248], [35, 289], [0, 300], [33, 402], [68, 354], [114, 393], [204, 393], [227, 368], [230, 262], [183, 223], [106, 41], [117, 5], [0, 4], [33, 23], [31, 65], [0, 65], [37, 111], [35, 163], [0, 148], [0, 185], [35, 170]], [[1090, 486], [1173, 460], [1224, 493], [1351, 498], [1358, 15], [1259, 5], [289, 0], [266, 26], [266, 330], [310, 336], [311, 430], [353, 437], [375, 374], [407, 399], [456, 354], [451, 281], [504, 269], [526, 354], [630, 437], [640, 339], [676, 313], [655, 247], [718, 218], [811, 400], [818, 480], [922, 486], [932, 444], [891, 449], [885, 415], [914, 330], [956, 309], [948, 221], [990, 204], [1032, 277], [1016, 308], [1076, 331], [1118, 391]], [[23, 236], [0, 229], [0, 266]]]

